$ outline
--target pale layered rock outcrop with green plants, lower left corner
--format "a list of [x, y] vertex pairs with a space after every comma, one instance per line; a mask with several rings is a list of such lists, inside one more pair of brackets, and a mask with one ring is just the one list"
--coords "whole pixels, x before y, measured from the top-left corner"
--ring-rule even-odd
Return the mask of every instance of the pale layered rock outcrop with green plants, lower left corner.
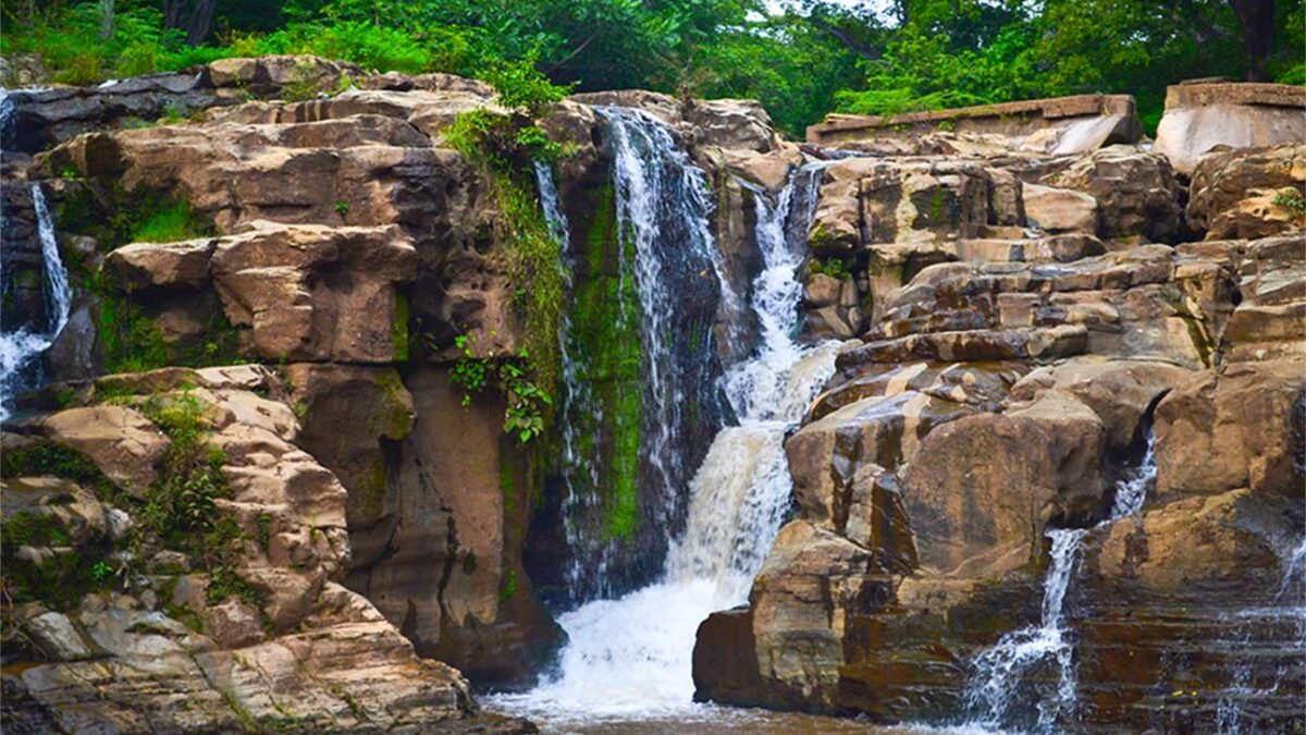
[[285, 395], [165, 369], [7, 425], [5, 653], [46, 662], [7, 674], [7, 731], [533, 731], [341, 586], [345, 489]]

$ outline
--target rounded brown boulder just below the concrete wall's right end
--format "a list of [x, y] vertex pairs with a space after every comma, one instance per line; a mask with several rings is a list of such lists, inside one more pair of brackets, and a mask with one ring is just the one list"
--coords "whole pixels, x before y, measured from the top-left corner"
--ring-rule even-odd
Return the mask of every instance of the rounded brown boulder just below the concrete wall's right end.
[[[1164, 156], [1111, 145], [1077, 160], [1053, 177], [1053, 183], [1097, 200], [1097, 230], [1088, 230], [1089, 234], [1102, 238], [1141, 234], [1162, 242], [1179, 235], [1179, 184]], [[1037, 213], [1033, 218], [1040, 221]]]

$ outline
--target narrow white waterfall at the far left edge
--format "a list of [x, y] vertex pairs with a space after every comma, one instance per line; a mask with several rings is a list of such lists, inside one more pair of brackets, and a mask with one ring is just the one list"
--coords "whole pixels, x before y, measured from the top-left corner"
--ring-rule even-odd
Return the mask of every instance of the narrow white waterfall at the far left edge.
[[22, 328], [0, 333], [0, 420], [9, 417], [8, 402], [27, 387], [25, 377], [39, 368], [37, 358], [54, 344], [55, 337], [68, 323], [68, 314], [72, 310], [68, 271], [59, 256], [55, 225], [39, 183], [31, 184], [31, 208], [37, 217], [37, 237], [40, 241], [40, 258], [44, 264], [43, 284], [48, 323], [43, 332]]

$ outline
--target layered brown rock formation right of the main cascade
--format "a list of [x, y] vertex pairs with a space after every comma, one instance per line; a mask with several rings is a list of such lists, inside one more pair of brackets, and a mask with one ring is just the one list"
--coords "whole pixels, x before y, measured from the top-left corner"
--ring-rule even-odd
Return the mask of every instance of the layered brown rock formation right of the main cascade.
[[1306, 535], [1299, 136], [1188, 184], [1124, 145], [816, 132], [853, 127], [880, 156], [825, 169], [811, 243], [871, 319], [785, 443], [798, 514], [748, 606], [699, 629], [697, 697], [1033, 726], [1057, 659], [1015, 666], [993, 713], [978, 658], [1046, 621], [1047, 531], [1085, 528], [1062, 726], [1299, 727], [1301, 643], [1264, 612], [1294, 604]]

